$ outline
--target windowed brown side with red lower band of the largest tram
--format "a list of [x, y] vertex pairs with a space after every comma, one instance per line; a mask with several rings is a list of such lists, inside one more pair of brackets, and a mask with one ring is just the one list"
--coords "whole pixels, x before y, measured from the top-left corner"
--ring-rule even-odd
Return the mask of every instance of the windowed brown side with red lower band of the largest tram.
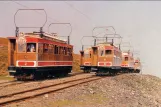
[[72, 70], [73, 47], [68, 44], [46, 41], [39, 44], [38, 67], [46, 75], [58, 76], [68, 74]]

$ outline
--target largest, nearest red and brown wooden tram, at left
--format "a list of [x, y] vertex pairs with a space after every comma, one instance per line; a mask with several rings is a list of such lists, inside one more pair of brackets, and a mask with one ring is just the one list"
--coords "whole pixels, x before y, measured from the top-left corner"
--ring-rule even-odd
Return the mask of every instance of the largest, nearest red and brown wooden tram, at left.
[[19, 33], [8, 37], [8, 70], [18, 80], [67, 75], [73, 46], [47, 33]]

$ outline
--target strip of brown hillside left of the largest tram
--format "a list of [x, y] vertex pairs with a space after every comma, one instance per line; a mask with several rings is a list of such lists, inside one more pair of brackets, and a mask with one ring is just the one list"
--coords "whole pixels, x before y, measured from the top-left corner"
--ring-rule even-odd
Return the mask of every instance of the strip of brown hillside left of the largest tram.
[[0, 38], [0, 75], [6, 75], [8, 62], [8, 39]]

